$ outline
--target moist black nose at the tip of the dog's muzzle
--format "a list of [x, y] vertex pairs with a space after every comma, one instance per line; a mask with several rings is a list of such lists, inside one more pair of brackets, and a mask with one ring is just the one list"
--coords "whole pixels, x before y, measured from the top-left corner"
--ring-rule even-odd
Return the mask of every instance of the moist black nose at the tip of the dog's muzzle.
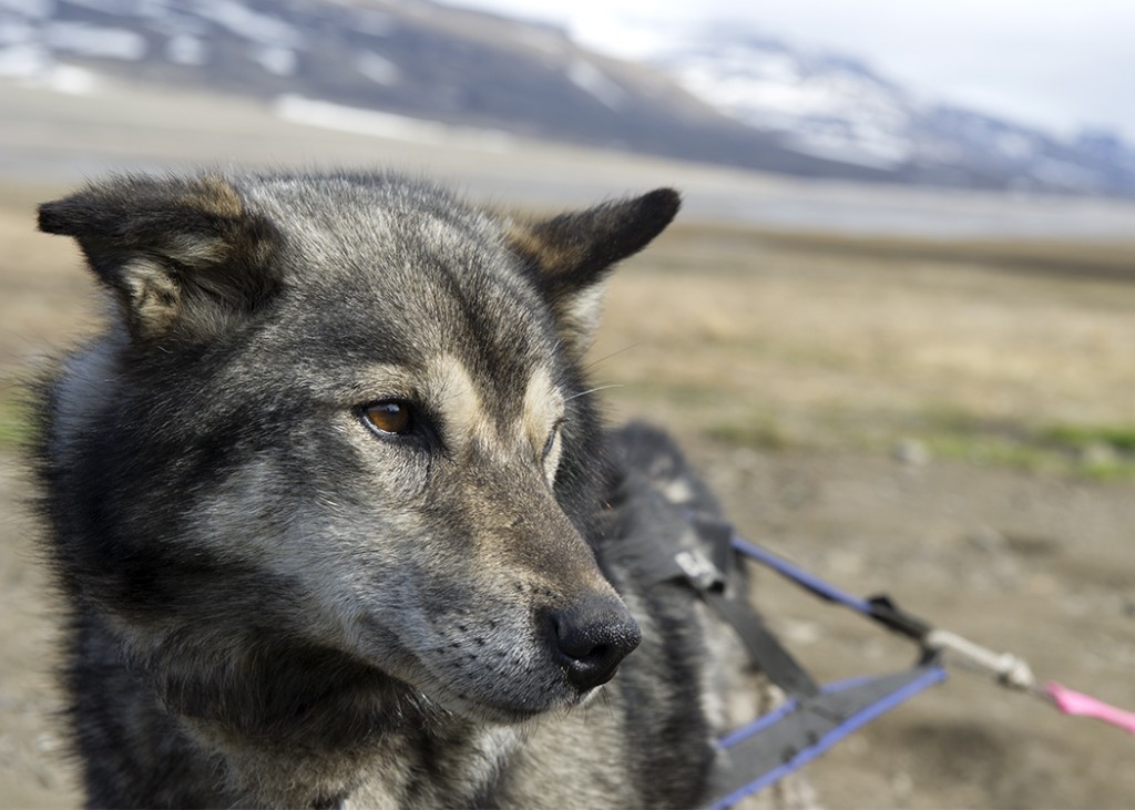
[[619, 663], [639, 646], [642, 632], [622, 602], [595, 599], [553, 613], [552, 647], [568, 681], [580, 691], [614, 677]]

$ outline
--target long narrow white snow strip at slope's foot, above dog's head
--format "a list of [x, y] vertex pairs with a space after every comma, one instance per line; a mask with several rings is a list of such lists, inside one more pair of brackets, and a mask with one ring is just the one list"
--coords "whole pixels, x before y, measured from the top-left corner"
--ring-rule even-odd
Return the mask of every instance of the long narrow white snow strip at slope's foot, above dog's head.
[[512, 136], [503, 132], [448, 127], [438, 121], [333, 104], [328, 101], [305, 99], [300, 95], [279, 96], [272, 104], [272, 111], [279, 118], [293, 124], [356, 135], [370, 135], [390, 141], [409, 141], [432, 145], [457, 143], [487, 152], [506, 152], [513, 145]]

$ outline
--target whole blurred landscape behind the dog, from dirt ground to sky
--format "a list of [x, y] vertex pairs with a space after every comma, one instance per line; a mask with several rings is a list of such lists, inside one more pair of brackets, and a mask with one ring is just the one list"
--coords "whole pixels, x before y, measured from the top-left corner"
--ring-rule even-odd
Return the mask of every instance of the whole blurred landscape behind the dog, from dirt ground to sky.
[[[1133, 36], [1127, 0], [0, 0], [0, 805], [79, 803], [19, 385], [102, 311], [34, 206], [118, 170], [681, 188], [612, 285], [612, 420], [674, 431], [753, 539], [1135, 707]], [[911, 657], [758, 584], [823, 678]], [[832, 808], [1120, 808], [1133, 745], [958, 672], [809, 775]]]

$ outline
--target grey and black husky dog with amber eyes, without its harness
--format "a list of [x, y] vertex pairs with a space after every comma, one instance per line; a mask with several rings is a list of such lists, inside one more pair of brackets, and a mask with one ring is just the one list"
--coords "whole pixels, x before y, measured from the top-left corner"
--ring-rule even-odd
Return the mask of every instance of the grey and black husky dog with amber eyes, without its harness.
[[768, 690], [625, 549], [715, 506], [581, 370], [609, 269], [678, 208], [520, 222], [371, 174], [41, 206], [116, 304], [37, 448], [90, 805], [708, 798]]

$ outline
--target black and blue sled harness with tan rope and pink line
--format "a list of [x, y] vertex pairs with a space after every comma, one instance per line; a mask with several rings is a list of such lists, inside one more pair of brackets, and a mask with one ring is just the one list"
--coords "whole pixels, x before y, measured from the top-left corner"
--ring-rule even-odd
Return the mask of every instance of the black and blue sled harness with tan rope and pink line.
[[[902, 610], [885, 596], [860, 599], [738, 537], [731, 525], [689, 515], [695, 543], [644, 543], [647, 582], [682, 582], [737, 632], [750, 665], [784, 691], [785, 702], [716, 741], [707, 810], [724, 810], [810, 762], [858, 728], [947, 678], [945, 653], [993, 674], [1011, 689], [1042, 697], [1065, 714], [1096, 717], [1135, 734], [1135, 714], [1071, 692], [1039, 687], [1022, 659], [980, 647]], [[657, 538], [656, 538], [657, 539]], [[917, 644], [914, 665], [898, 673], [819, 685], [768, 630], [746, 598], [741, 558], [760, 563], [814, 596], [849, 608]]]

